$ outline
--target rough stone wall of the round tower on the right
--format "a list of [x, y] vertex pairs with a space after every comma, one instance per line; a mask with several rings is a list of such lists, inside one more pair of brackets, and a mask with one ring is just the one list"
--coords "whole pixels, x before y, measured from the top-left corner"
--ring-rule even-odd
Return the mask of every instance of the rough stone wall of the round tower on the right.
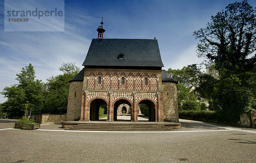
[[173, 82], [162, 82], [163, 119], [179, 122], [177, 85]]

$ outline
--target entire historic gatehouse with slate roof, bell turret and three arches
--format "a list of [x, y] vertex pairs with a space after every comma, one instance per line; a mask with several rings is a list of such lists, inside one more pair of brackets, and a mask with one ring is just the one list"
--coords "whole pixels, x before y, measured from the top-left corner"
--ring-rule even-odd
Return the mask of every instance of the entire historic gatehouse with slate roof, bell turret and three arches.
[[145, 104], [149, 121], [178, 122], [177, 82], [162, 70], [157, 39], [103, 39], [103, 21], [97, 31], [84, 68], [70, 80], [67, 120], [98, 120], [99, 107], [107, 104], [107, 120], [116, 121], [125, 104], [136, 122], [138, 105]]

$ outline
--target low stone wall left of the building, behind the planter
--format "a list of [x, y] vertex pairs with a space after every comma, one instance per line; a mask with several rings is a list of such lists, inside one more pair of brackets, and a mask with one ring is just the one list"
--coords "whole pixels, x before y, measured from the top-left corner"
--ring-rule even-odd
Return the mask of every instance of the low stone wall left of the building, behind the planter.
[[39, 124], [61, 124], [61, 122], [67, 121], [67, 115], [40, 114], [40, 115], [31, 115], [31, 119], [34, 119]]

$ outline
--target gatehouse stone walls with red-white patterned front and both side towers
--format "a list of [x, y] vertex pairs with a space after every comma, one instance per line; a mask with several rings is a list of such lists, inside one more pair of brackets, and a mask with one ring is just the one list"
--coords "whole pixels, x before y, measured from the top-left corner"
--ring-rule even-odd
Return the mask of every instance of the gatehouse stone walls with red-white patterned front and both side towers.
[[108, 121], [116, 120], [117, 107], [126, 104], [136, 122], [138, 105], [146, 104], [150, 121], [178, 122], [176, 83], [162, 82], [161, 70], [84, 69], [83, 82], [70, 83], [67, 120], [90, 121], [97, 99], [107, 104]]

